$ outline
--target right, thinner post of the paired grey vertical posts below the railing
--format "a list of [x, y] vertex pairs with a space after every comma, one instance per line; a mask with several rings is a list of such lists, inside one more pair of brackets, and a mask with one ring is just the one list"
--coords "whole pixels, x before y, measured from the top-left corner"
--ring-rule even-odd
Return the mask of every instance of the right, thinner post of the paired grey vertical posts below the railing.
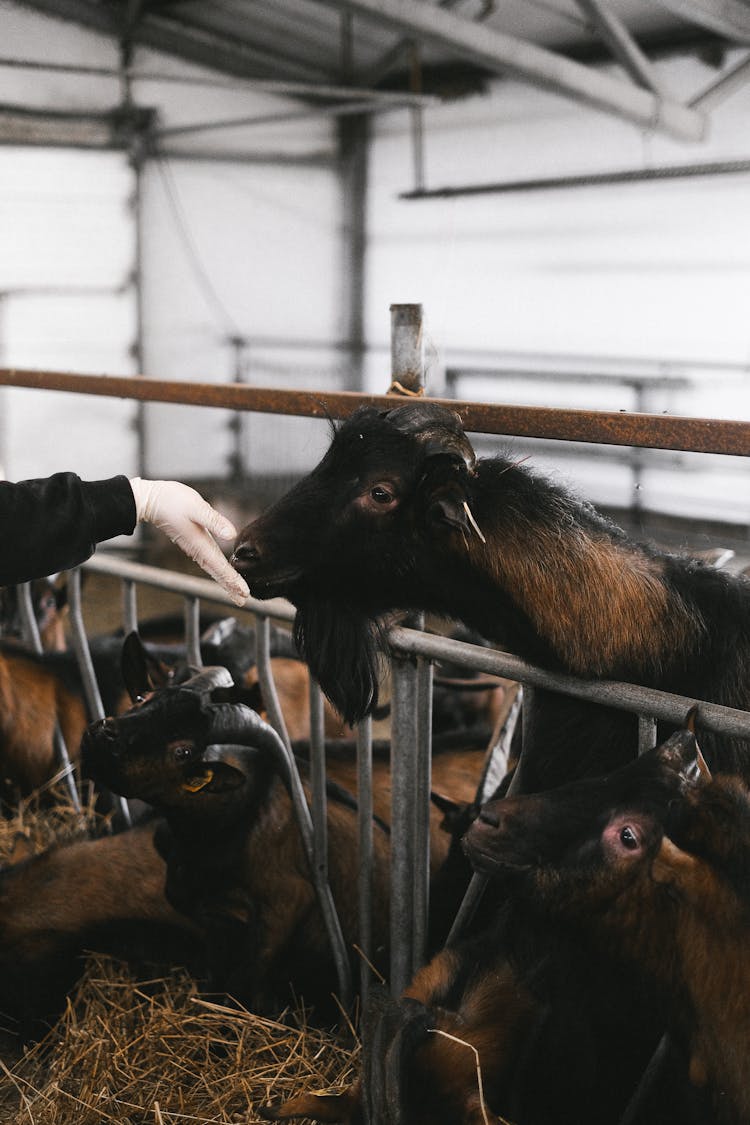
[[412, 972], [427, 953], [430, 914], [430, 790], [432, 788], [432, 664], [417, 663], [417, 738], [414, 804], [414, 948]]

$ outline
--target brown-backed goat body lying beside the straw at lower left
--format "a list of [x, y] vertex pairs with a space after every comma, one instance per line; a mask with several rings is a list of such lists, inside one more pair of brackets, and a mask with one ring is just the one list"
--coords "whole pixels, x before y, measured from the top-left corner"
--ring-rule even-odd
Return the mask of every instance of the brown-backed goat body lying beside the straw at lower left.
[[166, 901], [166, 866], [151, 822], [0, 867], [0, 1011], [22, 1040], [46, 1030], [80, 975], [85, 950], [201, 970], [204, 942]]

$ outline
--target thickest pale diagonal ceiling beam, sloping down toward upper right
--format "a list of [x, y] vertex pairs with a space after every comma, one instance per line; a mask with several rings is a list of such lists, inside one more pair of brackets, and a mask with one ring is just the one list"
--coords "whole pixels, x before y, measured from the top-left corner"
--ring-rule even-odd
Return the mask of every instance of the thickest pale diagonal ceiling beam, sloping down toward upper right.
[[576, 101], [614, 114], [641, 127], [660, 129], [685, 141], [705, 132], [702, 114], [669, 98], [590, 70], [580, 63], [524, 39], [476, 25], [424, 0], [322, 0], [369, 16], [380, 24], [408, 32], [423, 43], [437, 44], [452, 54], [488, 70], [553, 90]]

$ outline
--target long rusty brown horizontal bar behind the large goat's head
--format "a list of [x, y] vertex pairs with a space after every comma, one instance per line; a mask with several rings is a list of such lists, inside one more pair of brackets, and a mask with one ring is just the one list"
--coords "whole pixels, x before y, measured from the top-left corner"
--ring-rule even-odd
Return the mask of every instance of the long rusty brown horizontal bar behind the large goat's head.
[[[360, 395], [351, 390], [278, 390], [227, 384], [178, 382], [165, 379], [120, 378], [110, 375], [65, 375], [55, 371], [0, 369], [0, 386], [66, 390], [82, 395], [138, 398], [153, 403], [218, 406], [259, 414], [308, 417], [349, 417], [364, 404], [390, 410], [394, 397]], [[517, 438], [553, 438], [602, 446], [638, 446], [695, 453], [750, 456], [750, 422], [731, 418], [692, 418], [666, 414], [629, 414], [621, 411], [553, 410], [435, 398], [457, 411], [470, 433], [498, 433]]]

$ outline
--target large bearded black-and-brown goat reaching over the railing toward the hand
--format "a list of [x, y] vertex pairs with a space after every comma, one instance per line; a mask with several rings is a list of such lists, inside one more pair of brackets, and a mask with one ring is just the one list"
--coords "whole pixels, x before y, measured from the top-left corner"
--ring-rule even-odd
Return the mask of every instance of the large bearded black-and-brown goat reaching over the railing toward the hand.
[[[521, 465], [477, 460], [435, 403], [359, 410], [233, 560], [255, 596], [297, 606], [301, 649], [349, 721], [377, 700], [379, 623], [396, 609], [460, 619], [552, 669], [750, 709], [750, 583], [632, 542]], [[522, 788], [548, 789], [632, 757], [636, 719], [535, 688], [523, 741]], [[703, 742], [750, 780], [746, 741]]]

